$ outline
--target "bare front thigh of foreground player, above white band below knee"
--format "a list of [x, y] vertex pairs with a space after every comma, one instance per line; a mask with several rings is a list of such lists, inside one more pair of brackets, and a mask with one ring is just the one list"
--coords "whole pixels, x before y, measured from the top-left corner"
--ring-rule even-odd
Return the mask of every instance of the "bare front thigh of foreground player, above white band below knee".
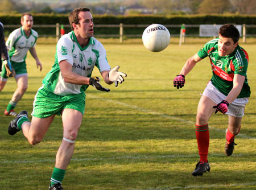
[[82, 123], [82, 113], [75, 109], [64, 109], [62, 112], [63, 137], [75, 141]]

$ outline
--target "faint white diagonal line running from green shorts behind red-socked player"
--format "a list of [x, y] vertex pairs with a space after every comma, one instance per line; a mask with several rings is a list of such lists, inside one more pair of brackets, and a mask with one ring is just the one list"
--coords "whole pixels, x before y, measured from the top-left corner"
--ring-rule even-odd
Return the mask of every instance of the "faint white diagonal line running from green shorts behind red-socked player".
[[[143, 109], [143, 108], [139, 108], [138, 106], [136, 105], [130, 105], [130, 104], [126, 104], [126, 103], [123, 103], [123, 102], [119, 102], [119, 101], [114, 101], [114, 100], [110, 100], [108, 98], [102, 98], [102, 97], [97, 97], [97, 96], [92, 96], [92, 95], [86, 95], [90, 98], [97, 98], [97, 99], [100, 99], [100, 100], [105, 100], [105, 101], [109, 101], [109, 102], [112, 102], [113, 104], [119, 104], [119, 105], [122, 105], [122, 106], [126, 106], [128, 108], [133, 108], [133, 109], [136, 109], [136, 110], [139, 110], [139, 111], [142, 111], [144, 113], [148, 113], [148, 114], [152, 114], [152, 115], [158, 115], [160, 117], [165, 117], [165, 118], [168, 118], [168, 119], [174, 119], [174, 120], [177, 120], [177, 121], [180, 121], [180, 122], [184, 122], [184, 123], [188, 123], [188, 124], [192, 124], [192, 125], [195, 125], [195, 122], [192, 122], [192, 121], [189, 121], [189, 120], [186, 120], [186, 119], [181, 119], [181, 118], [178, 118], [178, 117], [174, 117], [174, 116], [171, 116], [171, 115], [166, 115], [166, 114], [163, 114], [163, 113], [159, 113], [159, 112], [156, 112], [156, 111], [151, 111], [151, 110], [146, 110], [146, 109]], [[220, 131], [220, 132], [224, 132], [226, 131], [225, 130], [222, 130], [222, 129], [217, 129], [215, 127], [211, 127], [209, 126], [209, 129], [213, 129], [213, 130], [216, 130], [216, 131]], [[241, 134], [239, 133], [238, 134], [240, 137], [242, 138], [247, 138], [247, 139], [256, 139], [255, 137], [250, 137], [249, 135], [245, 135], [245, 134]]]

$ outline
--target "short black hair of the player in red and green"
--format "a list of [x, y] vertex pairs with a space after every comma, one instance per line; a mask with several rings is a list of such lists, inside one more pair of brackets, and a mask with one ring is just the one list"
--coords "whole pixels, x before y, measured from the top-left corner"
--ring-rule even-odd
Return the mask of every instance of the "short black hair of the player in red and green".
[[218, 34], [225, 38], [232, 38], [234, 43], [237, 43], [240, 38], [240, 33], [234, 24], [224, 24], [220, 27]]

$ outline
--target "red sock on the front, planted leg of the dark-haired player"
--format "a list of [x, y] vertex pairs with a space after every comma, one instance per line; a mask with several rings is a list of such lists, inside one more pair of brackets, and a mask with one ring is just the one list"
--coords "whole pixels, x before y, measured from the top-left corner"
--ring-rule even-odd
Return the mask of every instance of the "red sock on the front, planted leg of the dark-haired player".
[[200, 162], [208, 162], [208, 149], [209, 149], [209, 127], [207, 125], [196, 125], [196, 139], [200, 155]]

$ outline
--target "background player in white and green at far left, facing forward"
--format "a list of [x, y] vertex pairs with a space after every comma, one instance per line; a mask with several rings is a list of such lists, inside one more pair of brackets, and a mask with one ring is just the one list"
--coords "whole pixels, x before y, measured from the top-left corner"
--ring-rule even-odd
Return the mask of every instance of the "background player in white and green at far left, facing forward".
[[[38, 39], [38, 33], [32, 29], [34, 23], [32, 15], [30, 13], [24, 13], [21, 16], [20, 23], [22, 24], [22, 27], [11, 32], [9, 38], [6, 41], [6, 47], [9, 49], [11, 65], [13, 66], [16, 73], [15, 79], [17, 88], [9, 104], [7, 105], [5, 115], [16, 116], [14, 108], [27, 90], [28, 76], [26, 57], [28, 50], [30, 51], [32, 57], [34, 57], [36, 60], [36, 67], [40, 67], [40, 71], [42, 71], [42, 64], [36, 55], [35, 46], [36, 40]], [[3, 67], [1, 72], [0, 90], [5, 87], [7, 79], [8, 76], [6, 68]]]

